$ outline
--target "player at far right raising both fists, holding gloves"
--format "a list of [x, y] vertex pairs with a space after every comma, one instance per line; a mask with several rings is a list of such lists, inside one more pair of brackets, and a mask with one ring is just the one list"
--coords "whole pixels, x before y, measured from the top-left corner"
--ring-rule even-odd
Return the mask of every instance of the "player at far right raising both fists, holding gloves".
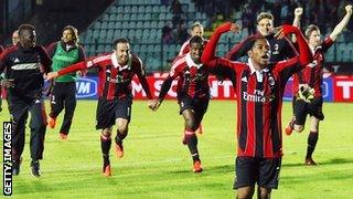
[[[308, 166], [315, 166], [312, 159], [312, 153], [317, 146], [319, 138], [319, 122], [324, 118], [322, 113], [322, 74], [324, 53], [332, 46], [339, 34], [347, 25], [352, 17], [352, 6], [345, 7], [345, 15], [342, 21], [334, 28], [331, 34], [321, 41], [320, 29], [317, 25], [310, 24], [306, 30], [306, 38], [308, 40], [313, 62], [309, 63], [304, 70], [296, 73], [293, 76], [293, 112], [295, 117], [286, 127], [286, 134], [290, 135], [292, 129], [302, 132], [304, 129], [306, 117], [310, 115], [310, 134], [308, 136], [308, 147], [304, 164]], [[295, 10], [293, 25], [300, 27], [300, 18], [302, 9]]]

